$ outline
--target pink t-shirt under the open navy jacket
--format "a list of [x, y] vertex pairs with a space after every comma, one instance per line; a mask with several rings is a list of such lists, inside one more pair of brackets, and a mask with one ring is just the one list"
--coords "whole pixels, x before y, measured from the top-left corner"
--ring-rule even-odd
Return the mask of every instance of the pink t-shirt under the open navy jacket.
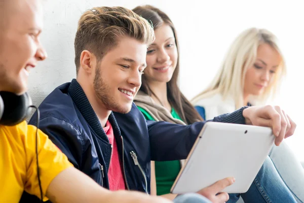
[[115, 136], [113, 133], [113, 128], [111, 123], [107, 120], [105, 127], [103, 130], [106, 133], [106, 136], [109, 139], [110, 144], [113, 146], [112, 149], [112, 157], [110, 161], [109, 171], [108, 171], [108, 179], [109, 179], [109, 188], [112, 191], [115, 190], [125, 190], [125, 179], [123, 175], [123, 167], [122, 161], [120, 160], [117, 143], [115, 140]]

